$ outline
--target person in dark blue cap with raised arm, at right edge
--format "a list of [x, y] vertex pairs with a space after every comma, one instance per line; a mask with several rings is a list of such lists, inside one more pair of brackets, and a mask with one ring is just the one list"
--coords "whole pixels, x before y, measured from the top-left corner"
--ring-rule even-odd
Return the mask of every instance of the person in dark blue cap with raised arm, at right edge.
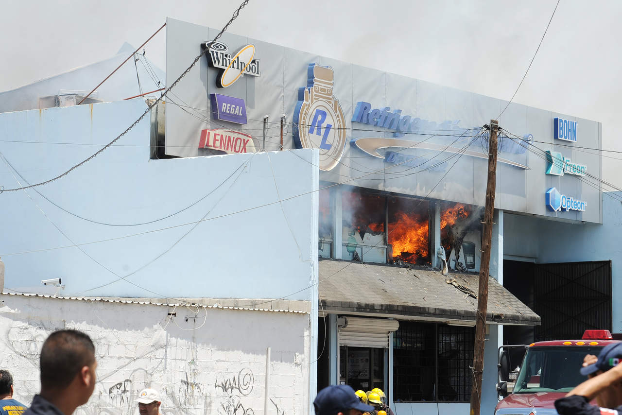
[[[581, 374], [593, 376], [565, 398], [555, 401], [560, 415], [622, 415], [622, 343], [612, 343], [598, 354], [592, 365], [581, 368]], [[590, 401], [598, 396], [598, 404]], [[615, 409], [610, 409], [615, 408]]]

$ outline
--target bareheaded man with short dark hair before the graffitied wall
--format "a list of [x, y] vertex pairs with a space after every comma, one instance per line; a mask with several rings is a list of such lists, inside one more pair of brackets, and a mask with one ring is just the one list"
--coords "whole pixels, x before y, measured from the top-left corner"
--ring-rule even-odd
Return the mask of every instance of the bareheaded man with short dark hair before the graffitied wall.
[[41, 348], [41, 392], [23, 415], [72, 415], [95, 388], [95, 346], [78, 330], [58, 330]]

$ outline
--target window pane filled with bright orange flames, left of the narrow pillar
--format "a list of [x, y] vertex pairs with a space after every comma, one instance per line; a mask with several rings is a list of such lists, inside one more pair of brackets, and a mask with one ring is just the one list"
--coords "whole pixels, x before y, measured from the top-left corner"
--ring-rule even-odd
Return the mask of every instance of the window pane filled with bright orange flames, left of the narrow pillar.
[[427, 200], [389, 197], [389, 259], [394, 262], [430, 262], [430, 214]]

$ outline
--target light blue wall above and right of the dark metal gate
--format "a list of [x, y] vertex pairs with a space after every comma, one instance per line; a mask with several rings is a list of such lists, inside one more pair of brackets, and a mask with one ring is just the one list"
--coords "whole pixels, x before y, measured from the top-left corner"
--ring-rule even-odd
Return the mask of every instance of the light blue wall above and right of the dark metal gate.
[[[622, 192], [603, 193], [602, 225], [506, 214], [504, 253], [532, 257], [536, 263], [611, 260], [615, 299], [615, 294], [622, 291], [621, 198]], [[622, 307], [615, 300], [613, 330], [622, 332]]]

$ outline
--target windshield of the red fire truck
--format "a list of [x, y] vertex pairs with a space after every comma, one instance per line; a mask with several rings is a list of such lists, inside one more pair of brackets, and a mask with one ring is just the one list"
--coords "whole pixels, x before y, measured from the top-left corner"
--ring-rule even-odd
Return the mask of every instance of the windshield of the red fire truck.
[[579, 373], [585, 355], [596, 355], [602, 347], [530, 347], [516, 378], [514, 393], [570, 392], [587, 380]]

